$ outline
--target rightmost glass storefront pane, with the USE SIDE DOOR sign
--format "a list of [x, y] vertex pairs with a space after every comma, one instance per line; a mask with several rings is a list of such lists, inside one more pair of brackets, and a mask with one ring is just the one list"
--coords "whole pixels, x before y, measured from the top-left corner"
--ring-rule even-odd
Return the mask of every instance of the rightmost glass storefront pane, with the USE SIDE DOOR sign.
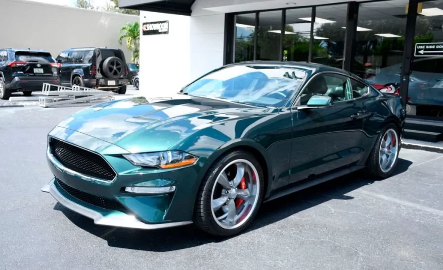
[[[416, 43], [435, 43], [434, 49], [415, 50], [408, 88], [408, 114], [443, 118], [443, 2], [423, 3], [415, 25]], [[428, 44], [429, 45], [429, 44]], [[426, 46], [426, 44], [424, 44]]]

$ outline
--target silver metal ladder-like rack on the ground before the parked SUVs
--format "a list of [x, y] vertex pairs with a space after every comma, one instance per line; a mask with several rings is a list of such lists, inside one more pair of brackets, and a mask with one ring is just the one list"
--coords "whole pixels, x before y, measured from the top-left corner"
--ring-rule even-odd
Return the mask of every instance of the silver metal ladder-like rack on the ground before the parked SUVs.
[[[57, 90], [52, 90], [57, 88]], [[93, 88], [73, 85], [72, 87], [43, 83], [41, 92], [33, 92], [41, 95], [38, 97], [38, 105], [41, 107], [52, 107], [62, 104], [73, 104], [78, 102], [91, 102], [93, 99], [114, 95], [114, 92], [102, 91]]]

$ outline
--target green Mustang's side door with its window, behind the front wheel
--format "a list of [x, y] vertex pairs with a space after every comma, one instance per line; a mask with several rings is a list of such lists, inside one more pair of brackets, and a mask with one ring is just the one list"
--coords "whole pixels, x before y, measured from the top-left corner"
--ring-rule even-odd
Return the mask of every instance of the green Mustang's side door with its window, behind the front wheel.
[[[330, 107], [307, 107], [313, 95], [332, 97]], [[320, 73], [309, 80], [292, 107], [290, 182], [356, 164], [363, 156], [362, 107], [347, 76]]]

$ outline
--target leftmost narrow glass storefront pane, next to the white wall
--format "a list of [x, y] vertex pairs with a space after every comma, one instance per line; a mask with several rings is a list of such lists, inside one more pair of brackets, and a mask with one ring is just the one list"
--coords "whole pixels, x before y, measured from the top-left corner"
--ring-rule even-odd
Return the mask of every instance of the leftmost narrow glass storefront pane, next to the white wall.
[[254, 60], [255, 13], [235, 16], [234, 62]]

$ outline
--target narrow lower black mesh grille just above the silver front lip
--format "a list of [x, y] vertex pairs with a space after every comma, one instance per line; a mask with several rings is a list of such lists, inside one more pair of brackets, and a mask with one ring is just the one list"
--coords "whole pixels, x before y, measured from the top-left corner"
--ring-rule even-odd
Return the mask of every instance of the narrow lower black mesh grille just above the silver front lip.
[[83, 191], [80, 191], [78, 189], [75, 189], [73, 187], [70, 187], [68, 185], [66, 185], [65, 183], [63, 183], [62, 181], [60, 181], [59, 179], [56, 178], [56, 182], [57, 185], [60, 188], [68, 193], [69, 195], [71, 195], [72, 197], [75, 197], [83, 202], [107, 209], [107, 210], [117, 210], [117, 211], [121, 211], [121, 212], [127, 212], [128, 210], [121, 205], [118, 201], [115, 200], [110, 200], [110, 199], [106, 199], [100, 196], [96, 196], [96, 195], [92, 195]]

